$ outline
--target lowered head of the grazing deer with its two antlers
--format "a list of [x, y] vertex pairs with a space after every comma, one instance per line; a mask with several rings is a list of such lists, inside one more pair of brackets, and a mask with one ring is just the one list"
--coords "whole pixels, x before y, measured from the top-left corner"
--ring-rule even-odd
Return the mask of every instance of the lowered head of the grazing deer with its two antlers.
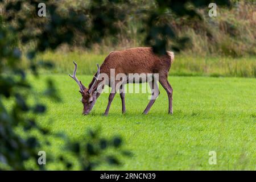
[[97, 93], [94, 92], [94, 86], [96, 85], [98, 77], [100, 76], [100, 67], [97, 64], [98, 71], [96, 76], [94, 76], [93, 84], [90, 86], [90, 88], [86, 88], [82, 84], [82, 82], [77, 79], [76, 77], [77, 64], [75, 61], [73, 61], [73, 63], [75, 64], [75, 69], [74, 69], [73, 75], [69, 74], [69, 76], [73, 78], [79, 85], [79, 92], [82, 95], [81, 102], [82, 102], [82, 105], [84, 105], [84, 110], [82, 111], [82, 114], [86, 115], [90, 113], [97, 99]]

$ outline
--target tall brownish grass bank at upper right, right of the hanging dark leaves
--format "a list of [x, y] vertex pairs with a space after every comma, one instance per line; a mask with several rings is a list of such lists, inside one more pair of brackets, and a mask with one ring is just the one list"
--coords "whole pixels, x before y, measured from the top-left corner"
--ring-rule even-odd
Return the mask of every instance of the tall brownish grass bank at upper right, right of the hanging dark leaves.
[[195, 20], [185, 26], [184, 22], [175, 23], [180, 35], [191, 38], [192, 46], [186, 52], [232, 57], [256, 55], [255, 10], [255, 2], [233, 2], [232, 9], [218, 8], [216, 17], [202, 11], [203, 22]]

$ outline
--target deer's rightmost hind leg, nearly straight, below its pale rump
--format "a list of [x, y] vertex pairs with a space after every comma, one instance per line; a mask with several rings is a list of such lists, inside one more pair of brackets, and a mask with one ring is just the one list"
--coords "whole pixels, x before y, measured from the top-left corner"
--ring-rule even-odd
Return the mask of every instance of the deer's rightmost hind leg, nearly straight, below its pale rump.
[[168, 113], [172, 114], [172, 87], [170, 85], [170, 83], [167, 80], [168, 78], [168, 73], [164, 73], [162, 75], [159, 75], [159, 82], [160, 84], [163, 86], [163, 88], [166, 90], [167, 95], [168, 95], [168, 100], [169, 100], [169, 109], [168, 109]]

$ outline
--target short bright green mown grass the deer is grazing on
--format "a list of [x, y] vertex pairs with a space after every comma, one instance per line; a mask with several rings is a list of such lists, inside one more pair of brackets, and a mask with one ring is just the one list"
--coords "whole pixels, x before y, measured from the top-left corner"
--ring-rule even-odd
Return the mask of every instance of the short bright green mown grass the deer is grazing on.
[[[160, 86], [160, 96], [148, 115], [142, 114], [148, 94], [126, 94], [127, 113], [121, 114], [117, 95], [105, 117], [108, 94], [102, 94], [92, 113], [83, 116], [75, 82], [68, 75], [43, 75], [32, 79], [35, 88], [43, 90], [47, 77], [56, 81], [63, 101], [39, 98], [47, 105], [47, 114], [38, 117], [43, 126], [71, 138], [101, 127], [107, 137], [121, 135], [124, 147], [134, 154], [121, 158], [121, 167], [97, 169], [256, 169], [255, 78], [169, 77], [174, 88], [173, 115], [167, 114], [167, 94]], [[78, 77], [85, 85], [92, 79]], [[50, 125], [49, 120], [53, 121]], [[52, 143], [52, 148], [42, 149], [48, 154], [62, 150], [60, 142]], [[216, 151], [216, 165], [208, 163], [209, 151]]]

